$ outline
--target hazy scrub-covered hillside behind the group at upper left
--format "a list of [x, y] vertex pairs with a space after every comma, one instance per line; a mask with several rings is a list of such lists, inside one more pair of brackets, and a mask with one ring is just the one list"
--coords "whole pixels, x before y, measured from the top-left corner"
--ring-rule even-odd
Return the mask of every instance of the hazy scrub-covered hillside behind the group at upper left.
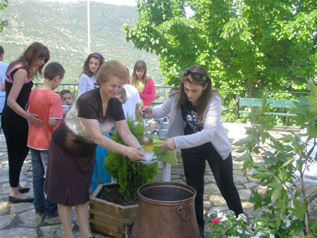
[[[91, 52], [99, 52], [106, 60], [118, 59], [125, 63], [132, 75], [135, 61], [144, 60], [148, 75], [156, 84], [163, 76], [157, 56], [134, 49], [126, 42], [121, 27], [135, 22], [135, 6], [114, 6], [90, 2]], [[9, 0], [8, 8], [1, 11], [8, 27], [0, 35], [4, 46], [4, 61], [9, 63], [22, 54], [32, 42], [42, 42], [51, 51], [51, 60], [62, 63], [66, 69], [64, 82], [78, 82], [87, 49], [87, 2], [52, 2]]]

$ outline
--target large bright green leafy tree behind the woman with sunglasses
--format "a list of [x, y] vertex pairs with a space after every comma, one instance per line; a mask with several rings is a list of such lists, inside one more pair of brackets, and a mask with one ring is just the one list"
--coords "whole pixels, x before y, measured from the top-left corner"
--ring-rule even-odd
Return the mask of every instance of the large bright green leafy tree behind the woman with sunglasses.
[[317, 68], [316, 6], [315, 0], [138, 0], [137, 22], [123, 29], [137, 49], [159, 56], [167, 84], [178, 84], [182, 70], [199, 63], [219, 88], [305, 90]]

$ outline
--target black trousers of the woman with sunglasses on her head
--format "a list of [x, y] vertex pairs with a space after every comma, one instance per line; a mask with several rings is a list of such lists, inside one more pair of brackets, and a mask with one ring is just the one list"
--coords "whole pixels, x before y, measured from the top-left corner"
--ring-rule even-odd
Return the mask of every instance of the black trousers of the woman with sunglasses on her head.
[[232, 156], [231, 154], [223, 160], [209, 142], [201, 146], [189, 149], [182, 149], [182, 161], [186, 182], [193, 187], [196, 192], [195, 211], [199, 227], [204, 230], [204, 174], [206, 161], [209, 163], [217, 186], [225, 199], [230, 210], [235, 215], [243, 213], [242, 204], [232, 175]]

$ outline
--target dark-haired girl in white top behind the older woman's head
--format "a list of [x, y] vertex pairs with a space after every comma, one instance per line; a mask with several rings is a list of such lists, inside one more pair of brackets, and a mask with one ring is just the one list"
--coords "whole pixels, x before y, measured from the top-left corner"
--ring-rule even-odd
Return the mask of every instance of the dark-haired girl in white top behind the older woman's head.
[[80, 75], [77, 98], [98, 87], [96, 75], [102, 63], [104, 63], [104, 56], [99, 53], [89, 54], [84, 63], [82, 75]]

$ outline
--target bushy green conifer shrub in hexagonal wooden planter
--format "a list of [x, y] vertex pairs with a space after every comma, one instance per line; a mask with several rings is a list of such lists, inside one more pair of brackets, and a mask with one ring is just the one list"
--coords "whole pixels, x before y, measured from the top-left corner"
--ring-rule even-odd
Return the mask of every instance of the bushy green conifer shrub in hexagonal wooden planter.
[[[141, 138], [143, 125], [128, 119], [132, 134]], [[111, 136], [114, 141], [124, 144], [118, 133]], [[109, 237], [125, 237], [125, 230], [137, 215], [137, 189], [152, 182], [157, 173], [157, 163], [144, 165], [131, 161], [123, 154], [110, 152], [106, 157], [106, 168], [117, 184], [100, 184], [90, 198], [90, 226], [92, 230]], [[109, 195], [109, 196], [108, 196]], [[105, 199], [111, 201], [106, 201]]]

